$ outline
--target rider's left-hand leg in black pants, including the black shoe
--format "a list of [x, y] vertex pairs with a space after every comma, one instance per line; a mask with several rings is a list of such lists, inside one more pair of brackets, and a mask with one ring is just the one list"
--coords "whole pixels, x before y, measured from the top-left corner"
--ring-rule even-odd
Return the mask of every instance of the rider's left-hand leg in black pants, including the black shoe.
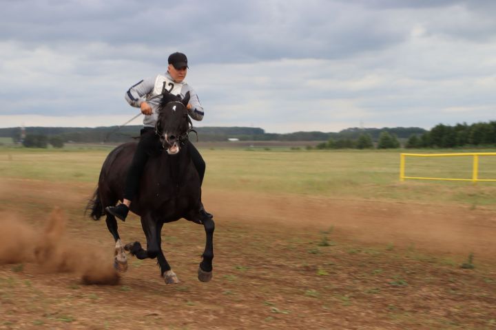
[[114, 217], [118, 217], [118, 219], [125, 221], [131, 206], [131, 201], [134, 199], [136, 192], [138, 192], [141, 173], [143, 173], [150, 153], [156, 148], [157, 139], [158, 137], [156, 137], [154, 129], [145, 127], [145, 129], [141, 130], [141, 138], [138, 142], [138, 146], [136, 146], [130, 168], [127, 170], [123, 203], [118, 206], [107, 206], [107, 208], [105, 208], [105, 211], [114, 215]]

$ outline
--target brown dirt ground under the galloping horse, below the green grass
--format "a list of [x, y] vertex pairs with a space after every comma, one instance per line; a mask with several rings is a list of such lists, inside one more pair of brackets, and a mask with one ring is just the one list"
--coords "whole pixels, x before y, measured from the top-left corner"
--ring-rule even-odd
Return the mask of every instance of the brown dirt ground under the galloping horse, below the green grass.
[[[0, 217], [46, 237], [60, 206], [65, 243], [82, 252], [66, 253], [66, 266], [112, 265], [105, 221], [83, 215], [93, 189], [1, 179]], [[216, 221], [210, 283], [196, 278], [203, 227], [182, 220], [163, 230], [177, 285], [134, 257], [117, 285], [85, 285], [77, 267], [28, 257], [4, 262], [0, 329], [496, 329], [492, 210], [214, 189], [204, 202]], [[5, 228], [3, 254], [29, 255], [34, 243]], [[137, 217], [119, 231], [145, 242]]]

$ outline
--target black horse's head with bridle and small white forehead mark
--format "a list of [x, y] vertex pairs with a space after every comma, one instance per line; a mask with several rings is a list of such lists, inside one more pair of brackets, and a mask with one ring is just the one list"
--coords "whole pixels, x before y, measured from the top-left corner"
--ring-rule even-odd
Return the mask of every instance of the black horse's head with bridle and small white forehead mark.
[[189, 119], [186, 109], [189, 102], [189, 91], [185, 98], [166, 93], [163, 95], [158, 107], [158, 120], [155, 132], [167, 153], [174, 155], [179, 152], [181, 142], [187, 140], [188, 133], [192, 129], [192, 121]]

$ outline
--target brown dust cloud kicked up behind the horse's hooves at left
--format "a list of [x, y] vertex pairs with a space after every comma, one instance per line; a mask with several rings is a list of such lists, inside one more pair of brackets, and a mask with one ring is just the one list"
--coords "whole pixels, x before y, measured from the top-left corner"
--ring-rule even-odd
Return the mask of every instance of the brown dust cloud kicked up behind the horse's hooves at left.
[[43, 229], [36, 230], [12, 214], [0, 216], [0, 265], [36, 263], [43, 272], [72, 272], [84, 284], [116, 285], [120, 276], [96, 246], [70, 239], [65, 215], [55, 208]]

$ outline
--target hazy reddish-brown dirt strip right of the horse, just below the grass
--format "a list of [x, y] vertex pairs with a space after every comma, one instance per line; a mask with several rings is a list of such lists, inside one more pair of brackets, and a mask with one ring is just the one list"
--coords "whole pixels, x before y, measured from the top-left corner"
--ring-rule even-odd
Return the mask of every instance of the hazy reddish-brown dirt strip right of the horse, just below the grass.
[[344, 241], [413, 245], [440, 254], [474, 252], [496, 261], [496, 213], [492, 210], [215, 190], [207, 192], [205, 200], [227, 219], [310, 231], [333, 225], [335, 236]]

